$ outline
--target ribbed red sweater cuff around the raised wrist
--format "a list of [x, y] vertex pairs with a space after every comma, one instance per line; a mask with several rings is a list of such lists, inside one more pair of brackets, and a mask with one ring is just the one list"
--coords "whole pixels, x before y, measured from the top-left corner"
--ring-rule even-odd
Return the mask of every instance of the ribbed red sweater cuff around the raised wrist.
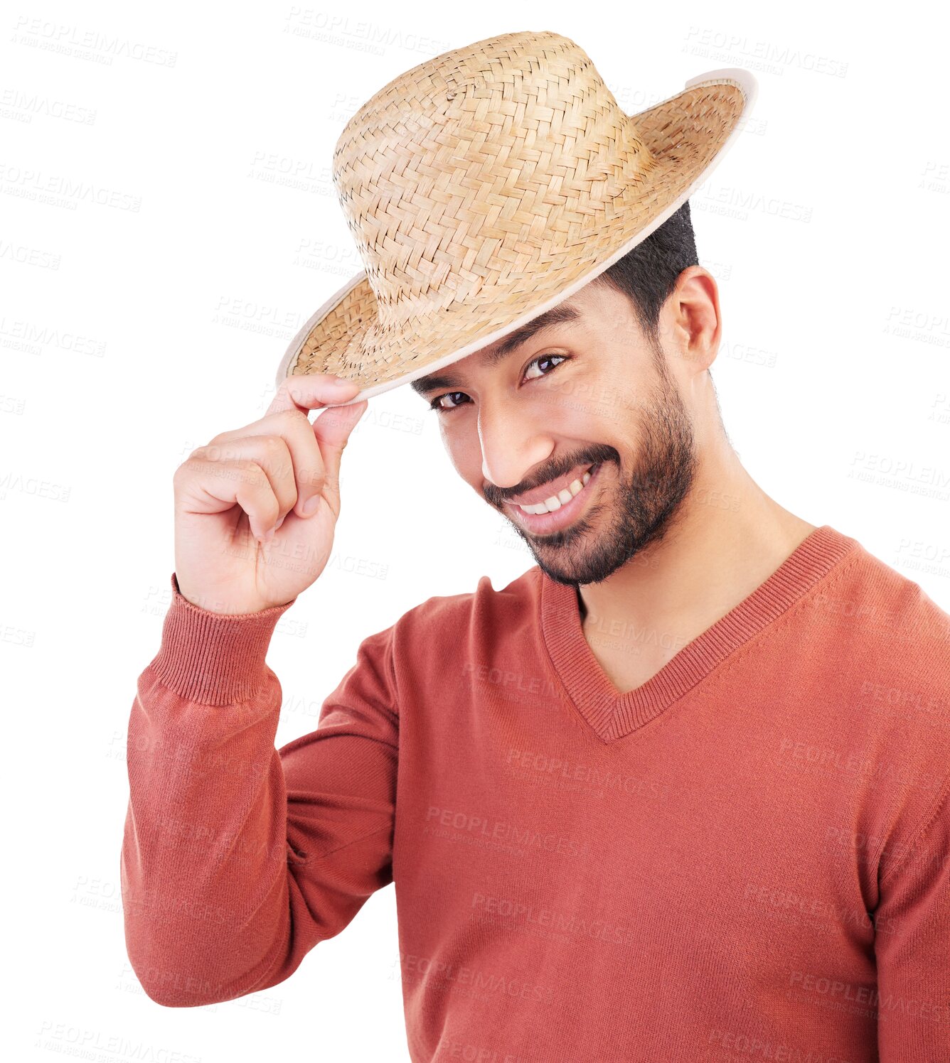
[[199, 705], [252, 698], [267, 677], [265, 657], [278, 621], [297, 601], [259, 612], [219, 613], [194, 605], [171, 574], [171, 605], [151, 663], [157, 680]]

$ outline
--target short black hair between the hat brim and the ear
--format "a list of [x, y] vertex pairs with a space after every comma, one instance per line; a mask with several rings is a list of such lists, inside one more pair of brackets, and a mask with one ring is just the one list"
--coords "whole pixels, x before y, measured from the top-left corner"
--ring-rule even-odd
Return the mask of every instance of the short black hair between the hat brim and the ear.
[[698, 266], [689, 200], [622, 258], [594, 279], [609, 284], [633, 304], [637, 321], [654, 350], [660, 347], [660, 310], [688, 266]]

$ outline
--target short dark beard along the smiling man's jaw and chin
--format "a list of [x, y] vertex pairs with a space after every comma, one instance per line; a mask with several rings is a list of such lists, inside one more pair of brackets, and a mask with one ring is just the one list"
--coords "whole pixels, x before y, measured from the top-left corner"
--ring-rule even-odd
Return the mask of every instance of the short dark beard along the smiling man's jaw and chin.
[[[538, 568], [559, 584], [578, 587], [606, 579], [664, 536], [689, 493], [698, 466], [693, 424], [666, 366], [656, 365], [657, 379], [640, 422], [639, 454], [630, 472], [613, 446], [591, 448], [576, 463], [603, 463], [600, 497], [573, 523], [533, 536], [507, 518]], [[612, 469], [613, 477], [607, 475]]]

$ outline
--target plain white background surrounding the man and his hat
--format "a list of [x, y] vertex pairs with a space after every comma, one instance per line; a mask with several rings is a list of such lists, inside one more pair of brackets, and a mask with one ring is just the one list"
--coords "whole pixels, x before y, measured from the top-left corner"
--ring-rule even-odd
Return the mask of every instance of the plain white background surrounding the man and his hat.
[[[409, 1059], [391, 887], [279, 986], [167, 1009], [128, 964], [118, 876], [128, 716], [169, 604], [172, 473], [263, 416], [289, 339], [361, 270], [334, 145], [364, 100], [435, 54], [555, 30], [630, 113], [706, 70], [756, 74], [748, 126], [690, 198], [720, 285], [727, 429], [769, 495], [950, 611], [938, 7], [878, 20], [827, 3], [50, 0], [15, 2], [0, 26], [16, 1059]], [[333, 557], [268, 655], [279, 745], [316, 726], [367, 634], [533, 563], [455, 475], [435, 417], [400, 387], [351, 436]]]

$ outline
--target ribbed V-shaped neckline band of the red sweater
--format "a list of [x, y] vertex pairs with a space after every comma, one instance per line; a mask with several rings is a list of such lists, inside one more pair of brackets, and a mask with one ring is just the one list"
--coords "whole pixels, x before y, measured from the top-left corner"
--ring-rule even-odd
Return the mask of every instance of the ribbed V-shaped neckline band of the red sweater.
[[541, 580], [539, 627], [554, 670], [578, 711], [604, 742], [612, 742], [643, 727], [701, 682], [856, 546], [856, 539], [830, 524], [815, 528], [751, 594], [633, 690], [617, 690], [594, 656], [584, 638], [577, 589], [559, 584], [536, 567]]

